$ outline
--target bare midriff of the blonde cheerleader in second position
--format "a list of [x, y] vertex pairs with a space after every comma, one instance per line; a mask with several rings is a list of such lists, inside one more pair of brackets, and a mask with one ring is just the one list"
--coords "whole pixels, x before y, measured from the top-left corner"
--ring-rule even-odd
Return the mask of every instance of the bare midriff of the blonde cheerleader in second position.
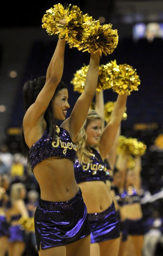
[[78, 184], [88, 213], [101, 213], [112, 203], [112, 198], [103, 181], [87, 181]]

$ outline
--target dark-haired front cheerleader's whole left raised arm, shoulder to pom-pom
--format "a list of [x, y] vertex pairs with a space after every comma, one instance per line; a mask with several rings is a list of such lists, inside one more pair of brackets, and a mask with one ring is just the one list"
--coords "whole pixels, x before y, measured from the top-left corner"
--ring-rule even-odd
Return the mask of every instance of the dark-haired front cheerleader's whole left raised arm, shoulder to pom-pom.
[[[55, 52], [47, 69], [45, 85], [37, 96], [35, 102], [26, 111], [23, 119], [23, 127], [33, 127], [43, 118], [44, 113], [54, 95], [56, 87], [62, 77], [64, 49], [65, 40], [59, 39]], [[29, 85], [29, 88], [31, 86], [33, 86], [32, 83]]]

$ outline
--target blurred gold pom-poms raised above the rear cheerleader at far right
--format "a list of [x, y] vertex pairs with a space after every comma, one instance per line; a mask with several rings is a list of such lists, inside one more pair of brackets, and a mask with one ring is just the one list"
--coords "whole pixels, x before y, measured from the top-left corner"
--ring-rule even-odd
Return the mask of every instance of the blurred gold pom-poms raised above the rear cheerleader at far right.
[[119, 136], [117, 154], [143, 156], [147, 146], [136, 138]]

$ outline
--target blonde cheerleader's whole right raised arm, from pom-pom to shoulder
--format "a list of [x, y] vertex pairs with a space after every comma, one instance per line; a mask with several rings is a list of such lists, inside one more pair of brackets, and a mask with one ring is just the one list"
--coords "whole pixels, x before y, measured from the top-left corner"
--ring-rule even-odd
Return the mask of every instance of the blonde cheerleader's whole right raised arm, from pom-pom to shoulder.
[[127, 95], [118, 95], [114, 109], [111, 114], [111, 120], [105, 127], [100, 142], [99, 151], [103, 159], [107, 157], [113, 147], [115, 137], [123, 117], [123, 113], [126, 107]]

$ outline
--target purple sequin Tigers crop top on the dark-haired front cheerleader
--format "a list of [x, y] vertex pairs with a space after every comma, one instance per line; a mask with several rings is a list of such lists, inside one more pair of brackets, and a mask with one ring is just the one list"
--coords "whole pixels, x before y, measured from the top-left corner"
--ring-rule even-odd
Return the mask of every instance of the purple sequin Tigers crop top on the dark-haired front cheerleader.
[[49, 138], [46, 130], [43, 136], [30, 148], [29, 158], [32, 171], [38, 163], [49, 157], [61, 157], [75, 161], [76, 147], [69, 133], [58, 126], [56, 131], [58, 134], [54, 141], [52, 137]]

